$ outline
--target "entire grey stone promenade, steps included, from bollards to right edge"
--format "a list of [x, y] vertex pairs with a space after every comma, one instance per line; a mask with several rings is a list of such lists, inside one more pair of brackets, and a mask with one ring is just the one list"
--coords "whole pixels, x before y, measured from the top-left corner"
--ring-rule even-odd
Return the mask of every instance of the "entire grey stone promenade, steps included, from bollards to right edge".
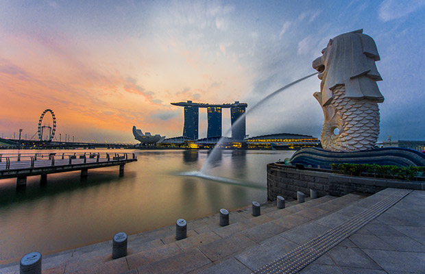
[[[43, 256], [42, 269], [43, 273], [284, 273], [261, 268], [289, 261], [285, 258], [316, 239], [317, 248], [297, 255], [295, 261], [306, 264], [300, 273], [424, 273], [424, 206], [424, 191], [393, 188], [369, 197], [353, 193], [290, 201], [282, 210], [270, 202], [262, 206], [261, 216], [252, 216], [250, 207], [230, 212], [226, 227], [219, 226], [218, 214], [188, 221], [184, 240], [175, 240], [174, 225], [129, 236], [127, 256], [117, 260], [111, 258], [108, 241]], [[348, 234], [341, 234], [335, 247], [323, 238], [330, 231], [340, 234], [345, 224], [352, 227], [353, 220], [368, 223], [354, 227], [352, 233], [345, 230]], [[305, 263], [311, 251], [318, 257]], [[19, 264], [3, 266], [0, 273], [19, 273]]]

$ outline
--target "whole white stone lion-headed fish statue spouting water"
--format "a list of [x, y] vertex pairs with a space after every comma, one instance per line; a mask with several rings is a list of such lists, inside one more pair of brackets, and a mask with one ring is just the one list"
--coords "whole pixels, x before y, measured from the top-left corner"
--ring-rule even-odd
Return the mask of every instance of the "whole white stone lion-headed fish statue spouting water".
[[320, 92], [313, 95], [324, 112], [321, 145], [328, 151], [372, 149], [379, 134], [378, 103], [384, 101], [376, 81], [382, 81], [374, 40], [363, 29], [329, 40], [313, 61]]

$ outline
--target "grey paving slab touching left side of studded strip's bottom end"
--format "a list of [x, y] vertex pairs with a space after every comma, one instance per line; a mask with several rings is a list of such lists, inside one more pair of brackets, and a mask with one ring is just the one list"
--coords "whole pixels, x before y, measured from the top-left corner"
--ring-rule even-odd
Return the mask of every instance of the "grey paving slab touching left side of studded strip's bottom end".
[[261, 245], [247, 248], [234, 258], [250, 268], [251, 271], [256, 271], [297, 247], [299, 245], [295, 244], [295, 242], [275, 236], [265, 240]]

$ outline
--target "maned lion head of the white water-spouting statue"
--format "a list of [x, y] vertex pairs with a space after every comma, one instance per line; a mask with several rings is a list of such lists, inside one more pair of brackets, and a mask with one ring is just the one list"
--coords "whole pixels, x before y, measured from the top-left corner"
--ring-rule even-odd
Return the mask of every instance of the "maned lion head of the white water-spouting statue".
[[380, 60], [374, 40], [363, 34], [363, 29], [332, 38], [321, 51], [323, 55], [313, 61], [319, 71], [320, 92], [315, 93], [321, 106], [328, 105], [332, 90], [345, 85], [345, 97], [384, 101], [376, 81], [382, 81], [375, 62]]

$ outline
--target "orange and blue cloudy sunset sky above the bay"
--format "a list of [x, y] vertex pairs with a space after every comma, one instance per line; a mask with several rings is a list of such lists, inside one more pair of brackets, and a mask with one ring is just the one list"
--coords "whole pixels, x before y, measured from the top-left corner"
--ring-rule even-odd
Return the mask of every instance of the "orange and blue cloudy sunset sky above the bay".
[[[47, 108], [62, 140], [136, 142], [133, 125], [181, 136], [171, 102], [249, 109], [314, 73], [328, 40], [356, 29], [380, 53], [379, 140], [425, 140], [425, 1], [0, 0], [0, 137], [33, 136]], [[247, 134], [319, 137], [319, 84], [311, 77], [248, 114]], [[199, 137], [206, 124], [202, 109]]]

